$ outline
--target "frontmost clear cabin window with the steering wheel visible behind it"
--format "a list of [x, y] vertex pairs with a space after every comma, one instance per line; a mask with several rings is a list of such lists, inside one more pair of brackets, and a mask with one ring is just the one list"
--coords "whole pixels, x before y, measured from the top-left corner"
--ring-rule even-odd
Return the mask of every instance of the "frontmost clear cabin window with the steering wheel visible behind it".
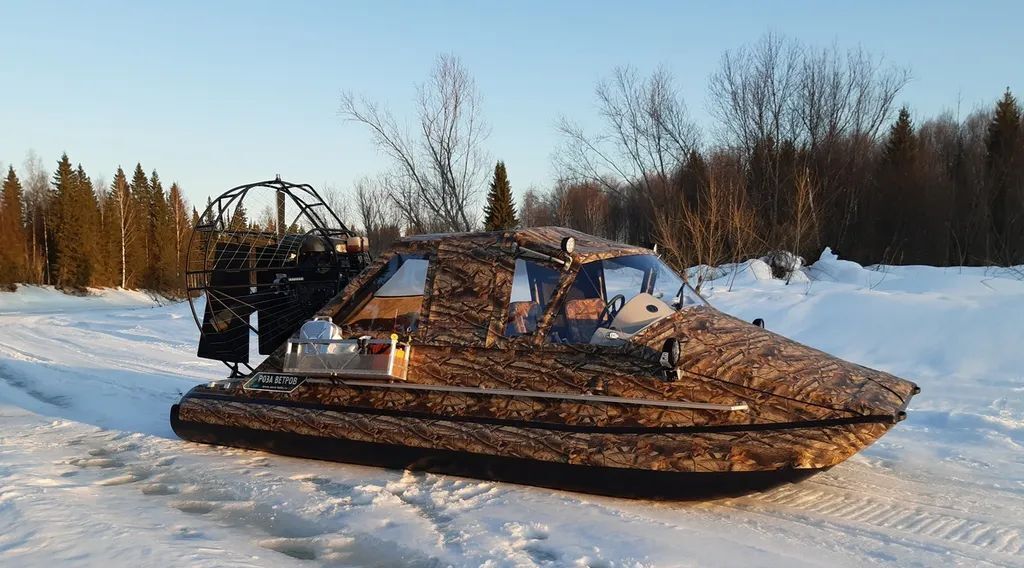
[[[614, 315], [616, 309], [639, 294], [650, 294], [670, 306], [679, 307], [682, 287], [683, 279], [654, 255], [588, 262], [580, 268], [567, 291], [562, 309], [552, 323], [549, 340], [589, 343], [602, 319], [607, 323], [609, 315]], [[622, 296], [622, 300], [617, 296]], [[611, 314], [605, 310], [609, 303]]]

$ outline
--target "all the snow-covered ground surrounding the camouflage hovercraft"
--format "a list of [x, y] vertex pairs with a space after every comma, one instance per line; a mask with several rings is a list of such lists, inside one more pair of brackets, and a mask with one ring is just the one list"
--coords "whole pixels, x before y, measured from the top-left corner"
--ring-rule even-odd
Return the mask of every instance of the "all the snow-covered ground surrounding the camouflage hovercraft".
[[1024, 274], [759, 261], [711, 301], [918, 382], [909, 419], [826, 474], [648, 503], [182, 442], [221, 378], [187, 304], [0, 294], [0, 565], [1024, 566]]

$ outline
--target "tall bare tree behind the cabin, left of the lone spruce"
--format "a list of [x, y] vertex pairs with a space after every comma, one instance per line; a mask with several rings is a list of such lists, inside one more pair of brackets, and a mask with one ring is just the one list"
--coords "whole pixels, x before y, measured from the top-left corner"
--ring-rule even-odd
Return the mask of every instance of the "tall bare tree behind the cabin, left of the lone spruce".
[[473, 228], [473, 206], [489, 163], [482, 147], [488, 129], [476, 84], [457, 57], [439, 56], [430, 78], [417, 88], [415, 130], [351, 92], [342, 94], [341, 116], [366, 125], [393, 162], [382, 187], [410, 229]]

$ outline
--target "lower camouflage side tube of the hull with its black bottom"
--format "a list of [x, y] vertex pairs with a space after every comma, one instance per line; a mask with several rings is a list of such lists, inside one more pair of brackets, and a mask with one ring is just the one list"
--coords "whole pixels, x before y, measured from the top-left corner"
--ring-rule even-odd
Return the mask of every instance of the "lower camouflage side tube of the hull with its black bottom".
[[892, 421], [602, 427], [331, 407], [197, 388], [183, 439], [288, 455], [623, 496], [706, 498], [798, 481], [877, 440]]

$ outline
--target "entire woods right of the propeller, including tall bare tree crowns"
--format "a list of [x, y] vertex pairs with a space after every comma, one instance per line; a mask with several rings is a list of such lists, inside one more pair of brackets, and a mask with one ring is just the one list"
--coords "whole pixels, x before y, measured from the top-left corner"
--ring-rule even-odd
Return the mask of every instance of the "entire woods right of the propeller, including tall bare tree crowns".
[[[615, 69], [594, 91], [598, 126], [558, 122], [558, 181], [526, 190], [506, 226], [656, 244], [678, 267], [776, 250], [814, 258], [824, 246], [864, 263], [1024, 263], [1020, 104], [1008, 89], [964, 117], [914, 120], [897, 104], [909, 78], [862, 48], [768, 34], [723, 54], [707, 85], [714, 122], [701, 131], [667, 70]], [[356, 184], [378, 247], [479, 226], [487, 127], [472, 77], [441, 56], [417, 101], [410, 131], [377, 102], [342, 95], [342, 117], [393, 164]], [[511, 204], [494, 187], [488, 217]]]

